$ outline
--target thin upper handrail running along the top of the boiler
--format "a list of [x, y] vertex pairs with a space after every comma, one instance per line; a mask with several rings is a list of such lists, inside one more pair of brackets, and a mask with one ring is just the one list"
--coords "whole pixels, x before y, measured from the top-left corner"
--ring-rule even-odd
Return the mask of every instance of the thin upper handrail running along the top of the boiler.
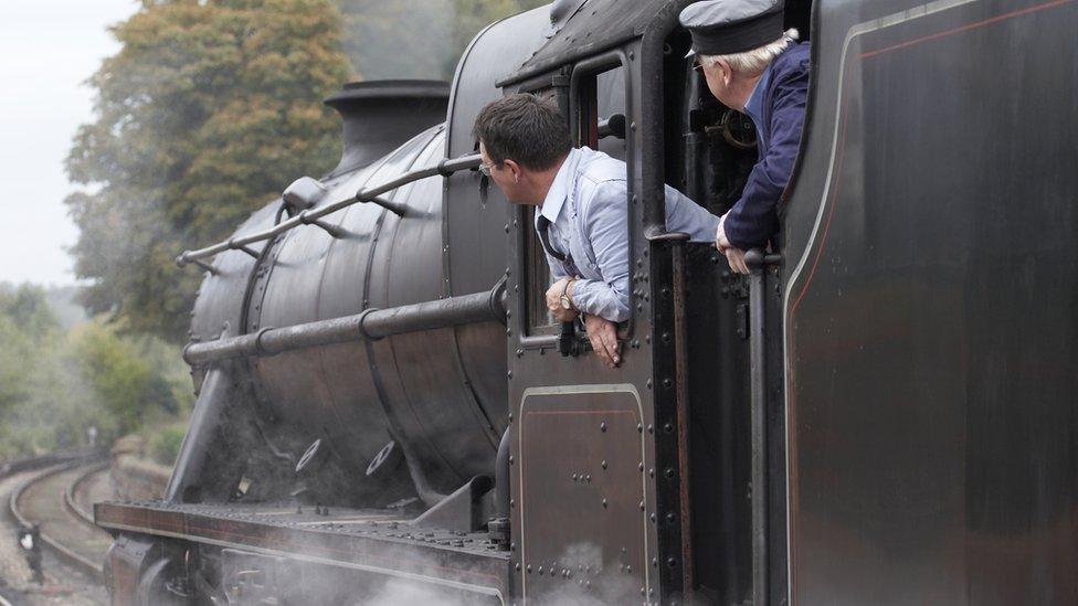
[[250, 244], [254, 244], [255, 242], [263, 242], [276, 237], [289, 230], [294, 230], [302, 225], [311, 224], [318, 219], [326, 216], [327, 214], [332, 214], [341, 209], [347, 209], [352, 204], [360, 203], [360, 202], [376, 202], [378, 201], [377, 199], [381, 194], [388, 191], [395, 190], [397, 188], [400, 188], [402, 185], [406, 185], [414, 181], [426, 179], [427, 177], [435, 177], [438, 174], [441, 174], [442, 177], [448, 177], [457, 171], [474, 169], [478, 167], [479, 163], [482, 162], [483, 159], [478, 153], [461, 156], [458, 158], [445, 158], [438, 161], [438, 163], [434, 166], [405, 172], [404, 174], [401, 174], [397, 179], [382, 183], [381, 185], [378, 185], [376, 188], [359, 190], [358, 192], [356, 192], [356, 195], [351, 198], [339, 200], [337, 202], [326, 204], [325, 206], [318, 209], [304, 211], [288, 219], [287, 221], [282, 221], [281, 223], [274, 225], [273, 227], [270, 227], [268, 230], [255, 232], [253, 234], [249, 234], [245, 236], [231, 237], [224, 242], [219, 242], [216, 244], [213, 244], [212, 246], [207, 246], [204, 248], [198, 248], [195, 251], [184, 251], [183, 254], [176, 257], [176, 264], [179, 265], [180, 267], [183, 267], [189, 263], [194, 263], [195, 265], [199, 265], [203, 269], [210, 270], [209, 265], [204, 263], [200, 263], [201, 259], [207, 257], [212, 257], [225, 251], [247, 252], [250, 251], [250, 248], [247, 248], [247, 245]]

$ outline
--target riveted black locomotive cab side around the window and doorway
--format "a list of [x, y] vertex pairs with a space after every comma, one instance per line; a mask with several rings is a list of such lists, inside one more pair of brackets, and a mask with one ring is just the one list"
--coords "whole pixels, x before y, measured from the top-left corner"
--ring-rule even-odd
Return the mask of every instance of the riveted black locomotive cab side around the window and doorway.
[[[808, 9], [786, 6], [801, 40]], [[688, 34], [667, 18], [599, 54], [570, 46], [598, 23], [570, 21], [500, 83], [557, 99], [578, 146], [628, 167], [633, 316], [619, 327], [617, 369], [600, 364], [579, 327], [566, 345], [569, 325], [554, 325], [543, 301], [550, 276], [533, 211], [510, 210], [507, 354], [520, 465], [511, 559], [521, 595], [540, 602], [581, 582], [559, 562], [589, 547], [604, 556], [585, 562], [585, 573], [602, 571], [585, 574], [585, 586], [624, 592], [594, 594], [605, 600], [785, 595], [782, 376], [762, 372], [781, 369], [776, 340], [764, 338], [781, 333], [776, 259], [761, 252], [753, 276], [732, 274], [714, 246], [665, 233], [662, 209], [669, 184], [712, 214], [728, 211], [757, 161], [754, 127], [710, 95], [681, 59]], [[622, 137], [610, 125], [623, 123]], [[545, 562], [559, 574], [537, 574]]]

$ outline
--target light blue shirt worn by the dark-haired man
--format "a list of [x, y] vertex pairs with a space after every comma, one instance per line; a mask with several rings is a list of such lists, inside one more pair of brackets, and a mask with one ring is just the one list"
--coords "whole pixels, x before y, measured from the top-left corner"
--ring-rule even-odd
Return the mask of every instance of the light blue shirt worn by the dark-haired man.
[[[572, 149], [536, 213], [550, 221], [550, 246], [572, 257], [580, 272], [572, 288], [577, 309], [623, 322], [630, 308], [628, 191], [625, 162], [586, 147]], [[666, 230], [691, 242], [714, 242], [719, 217], [666, 187]], [[554, 281], [562, 262], [547, 253]]]

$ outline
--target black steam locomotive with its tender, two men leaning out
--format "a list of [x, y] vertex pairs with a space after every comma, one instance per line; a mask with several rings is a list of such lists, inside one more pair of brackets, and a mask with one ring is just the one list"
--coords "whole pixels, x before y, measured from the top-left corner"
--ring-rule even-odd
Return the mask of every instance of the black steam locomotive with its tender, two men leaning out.
[[[114, 604], [1078, 603], [1078, 2], [790, 0], [748, 277], [664, 225], [755, 161], [687, 3], [559, 0], [327, 100], [339, 166], [179, 258], [199, 400], [166, 499], [96, 507]], [[474, 170], [517, 91], [627, 162], [617, 369]]]

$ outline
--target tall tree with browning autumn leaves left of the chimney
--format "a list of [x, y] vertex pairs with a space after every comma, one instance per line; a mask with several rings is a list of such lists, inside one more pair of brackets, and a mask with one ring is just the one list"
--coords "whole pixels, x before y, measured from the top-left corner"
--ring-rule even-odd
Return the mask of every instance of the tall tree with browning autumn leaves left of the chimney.
[[329, 0], [145, 0], [89, 79], [66, 200], [84, 304], [134, 331], [184, 339], [201, 276], [184, 248], [225, 237], [302, 174], [339, 157], [321, 99], [347, 79]]

